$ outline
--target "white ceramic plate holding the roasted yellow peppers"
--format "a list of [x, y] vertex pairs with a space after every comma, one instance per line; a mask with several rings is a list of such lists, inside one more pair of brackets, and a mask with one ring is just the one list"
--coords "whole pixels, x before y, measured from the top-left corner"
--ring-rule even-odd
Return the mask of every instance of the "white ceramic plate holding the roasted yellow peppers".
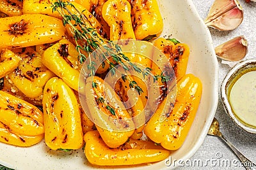
[[[195, 121], [182, 147], [172, 152], [174, 160], [189, 159], [202, 145], [211, 125], [218, 103], [218, 62], [214, 55], [209, 30], [198, 16], [191, 0], [159, 0], [164, 18], [162, 36], [172, 35], [187, 43], [191, 48], [188, 73], [198, 76], [203, 83], [203, 94]], [[45, 146], [44, 141], [29, 148], [19, 148], [0, 143], [0, 164], [14, 169], [170, 169], [162, 162], [150, 166], [96, 167], [88, 164], [84, 153], [77, 150], [71, 153], [54, 152]], [[178, 166], [178, 164], [175, 164]]]

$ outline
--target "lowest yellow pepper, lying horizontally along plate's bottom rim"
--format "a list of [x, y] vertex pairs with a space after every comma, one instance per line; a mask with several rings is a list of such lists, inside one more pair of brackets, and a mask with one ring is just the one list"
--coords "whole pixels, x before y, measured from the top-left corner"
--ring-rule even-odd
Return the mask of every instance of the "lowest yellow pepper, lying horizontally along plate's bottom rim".
[[[157, 162], [166, 159], [170, 155], [168, 150], [161, 148], [148, 148], [148, 144], [142, 144], [145, 148], [116, 148], [111, 149], [102, 141], [99, 132], [91, 131], [84, 135], [86, 143], [84, 153], [87, 160], [99, 166], [134, 165]], [[138, 141], [143, 143], [143, 141]], [[146, 142], [147, 143], [147, 142]]]

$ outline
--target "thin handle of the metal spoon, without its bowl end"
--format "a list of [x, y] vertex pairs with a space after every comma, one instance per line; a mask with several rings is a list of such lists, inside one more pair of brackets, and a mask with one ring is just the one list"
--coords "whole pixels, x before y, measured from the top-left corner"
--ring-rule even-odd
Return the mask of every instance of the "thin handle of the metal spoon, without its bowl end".
[[233, 146], [228, 140], [227, 138], [225, 138], [225, 136], [223, 136], [223, 134], [220, 135], [220, 138], [223, 139], [223, 141], [225, 141], [225, 143], [227, 143], [228, 146], [230, 146], [230, 148], [233, 150], [234, 153], [236, 153], [237, 157], [241, 160], [241, 162], [243, 163], [243, 166], [248, 169], [248, 170], [256, 170], [256, 164], [254, 164], [252, 161], [250, 161], [249, 159], [247, 159], [246, 157], [244, 157], [244, 155], [239, 152], [239, 150], [237, 150], [237, 148], [235, 148], [235, 146]]

